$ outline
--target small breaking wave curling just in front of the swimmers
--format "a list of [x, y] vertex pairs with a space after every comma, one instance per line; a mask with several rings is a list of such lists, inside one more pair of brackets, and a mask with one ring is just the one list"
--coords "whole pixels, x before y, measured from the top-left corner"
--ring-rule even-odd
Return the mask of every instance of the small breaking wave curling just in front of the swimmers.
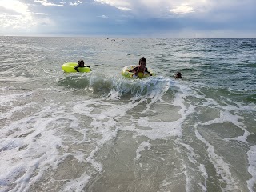
[[66, 75], [58, 79], [58, 86], [71, 90], [86, 90], [98, 96], [110, 97], [146, 97], [152, 98], [163, 90], [178, 89], [173, 78], [151, 77], [130, 79], [121, 76], [98, 76], [98, 74]]

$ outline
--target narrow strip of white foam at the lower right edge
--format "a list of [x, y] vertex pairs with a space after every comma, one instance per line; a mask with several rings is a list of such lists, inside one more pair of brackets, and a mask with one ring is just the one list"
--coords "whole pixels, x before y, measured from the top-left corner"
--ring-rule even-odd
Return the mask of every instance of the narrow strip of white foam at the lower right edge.
[[247, 152], [249, 166], [248, 172], [251, 174], [251, 178], [247, 180], [247, 187], [250, 192], [254, 192], [256, 185], [256, 146], [251, 146]]

